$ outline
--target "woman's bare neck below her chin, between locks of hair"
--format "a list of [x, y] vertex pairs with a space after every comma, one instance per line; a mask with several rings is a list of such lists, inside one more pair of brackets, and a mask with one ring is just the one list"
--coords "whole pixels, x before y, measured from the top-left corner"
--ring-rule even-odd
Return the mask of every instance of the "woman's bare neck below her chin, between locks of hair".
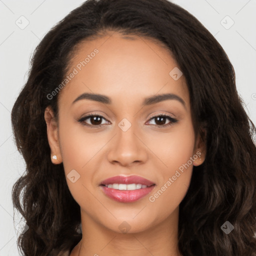
[[[84, 212], [83, 212], [84, 213]], [[136, 233], [114, 232], [81, 214], [82, 239], [70, 256], [181, 256], [178, 251], [178, 207], [157, 225]]]

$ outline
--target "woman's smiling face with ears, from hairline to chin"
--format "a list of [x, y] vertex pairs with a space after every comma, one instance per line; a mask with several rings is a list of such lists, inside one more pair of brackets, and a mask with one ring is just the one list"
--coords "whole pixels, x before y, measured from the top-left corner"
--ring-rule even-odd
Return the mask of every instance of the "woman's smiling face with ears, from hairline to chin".
[[[57, 155], [52, 162], [63, 161], [82, 219], [138, 232], [177, 216], [203, 154], [200, 161], [185, 78], [169, 52], [144, 37], [104, 36], [79, 46], [67, 76], [58, 127], [48, 125], [48, 139]], [[102, 96], [78, 98], [83, 93]], [[94, 118], [83, 118], [88, 114]], [[154, 185], [102, 185], [117, 175], [137, 175]]]

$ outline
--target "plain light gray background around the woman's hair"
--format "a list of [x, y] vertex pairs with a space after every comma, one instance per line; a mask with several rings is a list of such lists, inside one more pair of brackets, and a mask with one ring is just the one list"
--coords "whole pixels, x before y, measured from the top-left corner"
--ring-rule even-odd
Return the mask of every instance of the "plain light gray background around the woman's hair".
[[[26, 81], [35, 46], [51, 26], [82, 2], [0, 0], [0, 256], [18, 255], [17, 230], [24, 225], [17, 213], [13, 223], [11, 187], [25, 165], [14, 145], [10, 111]], [[173, 2], [199, 19], [222, 45], [234, 66], [245, 110], [256, 124], [256, 0]]]

